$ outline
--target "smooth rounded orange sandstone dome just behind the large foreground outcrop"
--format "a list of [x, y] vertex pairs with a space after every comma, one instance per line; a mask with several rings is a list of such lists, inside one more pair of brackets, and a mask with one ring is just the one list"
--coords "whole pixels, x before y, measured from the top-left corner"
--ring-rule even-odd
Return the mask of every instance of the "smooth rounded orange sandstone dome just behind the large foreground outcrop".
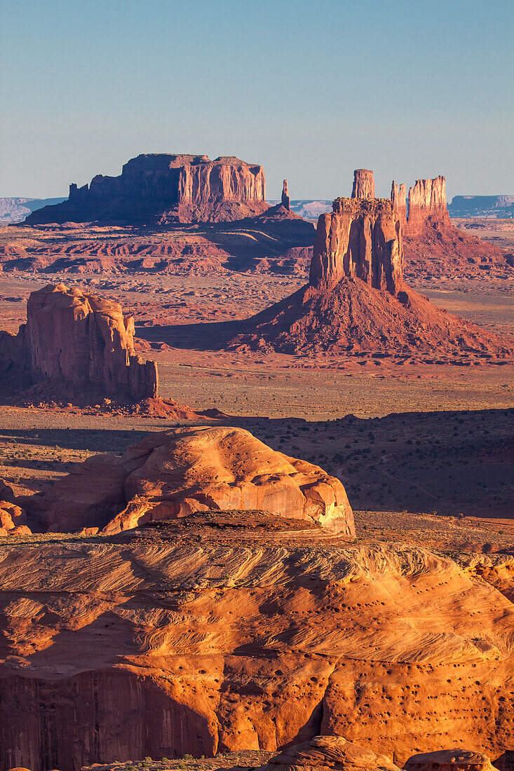
[[151, 433], [122, 458], [94, 456], [34, 497], [32, 506], [43, 527], [63, 532], [106, 526], [117, 533], [221, 509], [268, 511], [355, 535], [339, 480], [277, 453], [249, 431], [227, 427]]

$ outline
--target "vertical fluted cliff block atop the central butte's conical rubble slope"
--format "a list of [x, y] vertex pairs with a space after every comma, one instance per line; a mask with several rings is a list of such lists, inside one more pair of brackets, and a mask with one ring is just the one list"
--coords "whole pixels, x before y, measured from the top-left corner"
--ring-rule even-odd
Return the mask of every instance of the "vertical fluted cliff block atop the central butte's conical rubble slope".
[[387, 198], [336, 198], [316, 229], [309, 283], [330, 288], [360, 278], [396, 295], [403, 285], [401, 225]]

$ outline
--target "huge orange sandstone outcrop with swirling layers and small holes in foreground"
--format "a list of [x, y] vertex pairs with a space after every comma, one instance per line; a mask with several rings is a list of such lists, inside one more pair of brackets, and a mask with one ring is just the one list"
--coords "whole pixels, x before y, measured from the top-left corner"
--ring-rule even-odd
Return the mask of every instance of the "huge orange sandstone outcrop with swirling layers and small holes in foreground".
[[0, 767], [512, 746], [514, 608], [487, 577], [312, 531], [152, 530], [0, 547]]

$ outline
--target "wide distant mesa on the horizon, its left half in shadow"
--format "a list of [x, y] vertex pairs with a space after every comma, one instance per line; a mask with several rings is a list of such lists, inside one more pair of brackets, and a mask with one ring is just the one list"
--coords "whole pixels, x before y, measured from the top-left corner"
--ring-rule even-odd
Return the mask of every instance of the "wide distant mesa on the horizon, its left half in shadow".
[[33, 212], [25, 222], [219, 222], [266, 208], [262, 166], [235, 157], [163, 153], [132, 158], [120, 177], [99, 174], [90, 185], [72, 184], [67, 201]]

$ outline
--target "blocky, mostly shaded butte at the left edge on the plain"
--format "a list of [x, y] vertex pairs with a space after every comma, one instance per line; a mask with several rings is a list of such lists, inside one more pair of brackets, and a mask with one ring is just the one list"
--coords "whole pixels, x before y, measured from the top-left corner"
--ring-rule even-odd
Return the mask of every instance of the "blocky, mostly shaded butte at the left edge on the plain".
[[117, 302], [64, 284], [31, 293], [18, 335], [0, 332], [0, 362], [118, 399], [157, 396], [157, 365], [134, 351], [134, 318]]

